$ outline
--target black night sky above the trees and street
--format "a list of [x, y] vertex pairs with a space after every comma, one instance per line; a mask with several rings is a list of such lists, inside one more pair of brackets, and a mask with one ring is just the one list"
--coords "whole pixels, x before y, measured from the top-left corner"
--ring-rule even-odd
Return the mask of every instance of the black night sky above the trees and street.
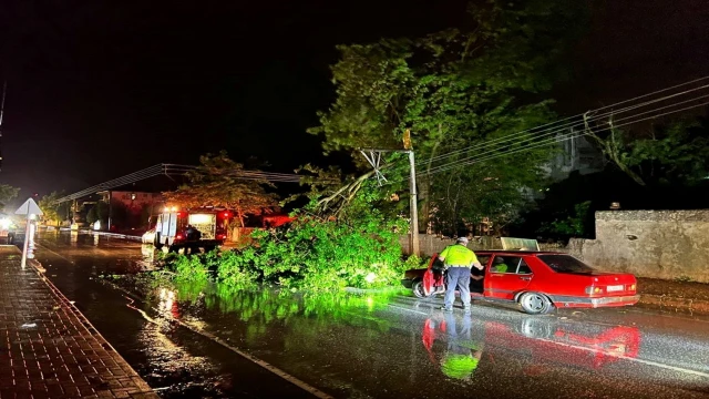
[[[0, 183], [85, 188], [227, 150], [270, 171], [325, 163], [335, 45], [461, 23], [466, 1], [0, 1]], [[709, 74], [709, 2], [593, 2], [558, 110]], [[337, 161], [333, 161], [337, 162]]]

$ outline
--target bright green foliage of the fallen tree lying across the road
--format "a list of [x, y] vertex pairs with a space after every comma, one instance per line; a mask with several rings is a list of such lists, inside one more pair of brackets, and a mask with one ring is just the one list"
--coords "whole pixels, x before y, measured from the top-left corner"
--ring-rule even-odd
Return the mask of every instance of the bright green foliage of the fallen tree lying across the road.
[[253, 245], [239, 250], [178, 255], [166, 263], [181, 279], [207, 279], [214, 269], [217, 282], [233, 287], [255, 282], [310, 291], [390, 286], [421, 259], [403, 262], [399, 236], [405, 223], [378, 211], [380, 201], [366, 183], [339, 218], [321, 218], [308, 208], [287, 226], [254, 232]]

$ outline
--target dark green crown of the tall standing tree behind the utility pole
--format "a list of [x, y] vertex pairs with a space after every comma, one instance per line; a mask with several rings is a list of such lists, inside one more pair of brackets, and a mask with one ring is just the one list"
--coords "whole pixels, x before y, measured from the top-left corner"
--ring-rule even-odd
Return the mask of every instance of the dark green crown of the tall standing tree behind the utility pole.
[[[533, 100], [533, 94], [558, 79], [565, 40], [583, 27], [582, 8], [558, 0], [493, 0], [471, 7], [470, 30], [340, 45], [340, 60], [332, 66], [337, 99], [309, 132], [322, 135], [330, 152], [400, 149], [410, 130], [422, 174], [419, 186], [428, 194], [423, 219], [434, 214], [448, 224], [481, 217], [507, 223], [524, 203], [522, 188], [544, 183], [540, 166], [553, 153], [548, 146], [530, 151], [535, 140], [531, 134], [491, 141], [554, 117], [549, 102]], [[436, 157], [473, 145], [475, 151]], [[471, 160], [523, 149], [527, 151], [521, 156], [465, 166]], [[368, 167], [353, 155], [360, 167]], [[388, 160], [391, 164], [395, 158]], [[405, 163], [386, 173], [394, 182], [389, 191], [405, 191]]]

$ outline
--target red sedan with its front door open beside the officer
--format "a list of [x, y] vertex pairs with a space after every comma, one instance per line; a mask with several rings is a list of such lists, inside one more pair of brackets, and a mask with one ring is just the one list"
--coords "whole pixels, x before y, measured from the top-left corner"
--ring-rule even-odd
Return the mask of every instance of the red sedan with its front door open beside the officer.
[[[473, 299], [518, 303], [528, 314], [554, 307], [597, 308], [637, 304], [637, 280], [631, 274], [602, 273], [567, 254], [551, 252], [480, 250], [484, 269], [473, 269]], [[442, 265], [433, 255], [428, 269], [410, 269], [401, 280], [420, 298], [444, 291]]]

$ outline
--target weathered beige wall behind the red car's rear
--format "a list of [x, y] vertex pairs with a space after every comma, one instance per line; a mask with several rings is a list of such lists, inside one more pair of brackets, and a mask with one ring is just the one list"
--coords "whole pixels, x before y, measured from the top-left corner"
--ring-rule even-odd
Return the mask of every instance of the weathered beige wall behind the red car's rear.
[[602, 270], [709, 283], [709, 209], [596, 213], [596, 239], [567, 250]]

